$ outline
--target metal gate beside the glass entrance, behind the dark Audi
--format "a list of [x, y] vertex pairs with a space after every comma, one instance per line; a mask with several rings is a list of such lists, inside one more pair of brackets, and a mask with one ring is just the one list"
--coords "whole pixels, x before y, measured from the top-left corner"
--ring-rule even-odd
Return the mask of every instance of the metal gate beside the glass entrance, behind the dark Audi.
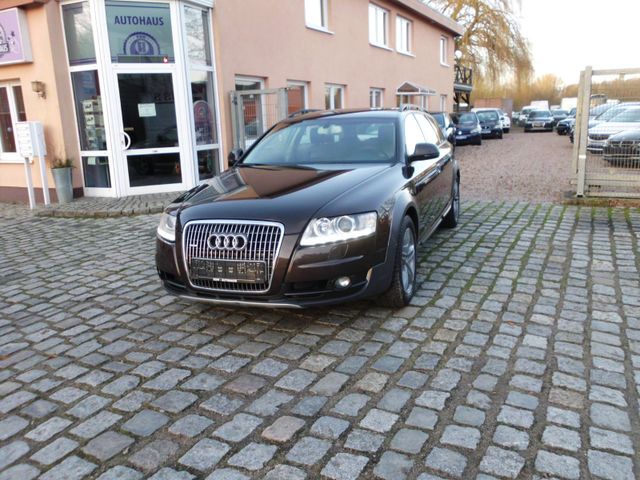
[[233, 147], [246, 151], [260, 136], [289, 114], [290, 88], [231, 92]]

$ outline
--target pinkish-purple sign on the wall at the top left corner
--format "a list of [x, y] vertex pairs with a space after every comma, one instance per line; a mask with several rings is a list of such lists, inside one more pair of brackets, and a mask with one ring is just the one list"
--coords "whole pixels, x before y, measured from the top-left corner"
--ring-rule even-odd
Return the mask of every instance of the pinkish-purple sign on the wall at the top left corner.
[[31, 62], [31, 43], [24, 11], [0, 11], [0, 65]]

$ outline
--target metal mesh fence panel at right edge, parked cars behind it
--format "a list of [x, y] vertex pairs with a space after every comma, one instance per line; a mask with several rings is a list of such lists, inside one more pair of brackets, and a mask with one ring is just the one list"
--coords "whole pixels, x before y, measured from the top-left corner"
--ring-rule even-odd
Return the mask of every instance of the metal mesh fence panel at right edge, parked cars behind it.
[[640, 197], [640, 68], [580, 74], [573, 166], [579, 197]]

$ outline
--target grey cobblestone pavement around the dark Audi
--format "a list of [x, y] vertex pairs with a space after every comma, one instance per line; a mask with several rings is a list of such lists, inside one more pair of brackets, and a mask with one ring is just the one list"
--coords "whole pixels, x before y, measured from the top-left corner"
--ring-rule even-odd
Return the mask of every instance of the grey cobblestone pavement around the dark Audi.
[[0, 479], [640, 478], [640, 211], [467, 202], [302, 313], [165, 295], [157, 220], [0, 207]]

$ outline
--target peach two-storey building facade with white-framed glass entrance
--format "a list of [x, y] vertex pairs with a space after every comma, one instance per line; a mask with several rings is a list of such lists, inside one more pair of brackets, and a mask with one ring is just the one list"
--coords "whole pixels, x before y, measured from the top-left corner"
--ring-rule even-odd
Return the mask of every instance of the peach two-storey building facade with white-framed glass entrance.
[[[2, 7], [0, 201], [27, 198], [18, 121], [43, 123], [48, 160], [73, 159], [77, 196], [115, 197], [206, 181], [239, 140], [246, 147], [297, 110], [452, 108], [462, 30], [418, 0]], [[28, 168], [38, 189], [36, 163]]]

